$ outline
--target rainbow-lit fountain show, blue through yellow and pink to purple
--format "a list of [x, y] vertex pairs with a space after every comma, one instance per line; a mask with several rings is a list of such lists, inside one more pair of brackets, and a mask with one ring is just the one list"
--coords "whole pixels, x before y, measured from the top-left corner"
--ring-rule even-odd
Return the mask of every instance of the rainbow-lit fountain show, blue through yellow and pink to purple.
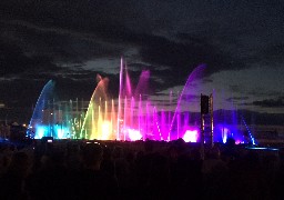
[[[97, 76], [97, 87], [87, 103], [79, 108], [75, 101], [55, 101], [52, 97], [54, 82], [49, 81], [37, 102], [30, 130], [34, 138], [98, 139], [98, 140], [164, 140], [183, 138], [186, 142], [199, 141], [200, 116], [189, 111], [192, 107], [191, 83], [202, 77], [205, 66], [199, 66], [189, 76], [183, 90], [176, 97], [174, 110], [165, 110], [153, 104], [148, 91], [150, 71], [142, 71], [134, 88], [126, 64], [121, 59], [118, 99], [108, 94], [109, 79]], [[173, 92], [169, 102], [173, 104]], [[84, 106], [85, 104], [85, 106]], [[184, 110], [184, 108], [187, 108]], [[236, 114], [235, 112], [233, 114]], [[234, 118], [236, 119], [236, 118]], [[236, 122], [236, 121], [234, 121]], [[216, 124], [214, 140], [225, 142], [232, 136], [226, 126]], [[236, 131], [236, 130], [233, 130]]]

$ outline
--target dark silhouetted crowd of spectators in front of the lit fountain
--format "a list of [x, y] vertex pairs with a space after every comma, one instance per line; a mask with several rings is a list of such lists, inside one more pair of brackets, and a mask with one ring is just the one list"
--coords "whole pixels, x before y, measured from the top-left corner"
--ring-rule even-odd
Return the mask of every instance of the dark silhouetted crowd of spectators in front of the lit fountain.
[[284, 199], [281, 151], [183, 140], [0, 144], [0, 199]]

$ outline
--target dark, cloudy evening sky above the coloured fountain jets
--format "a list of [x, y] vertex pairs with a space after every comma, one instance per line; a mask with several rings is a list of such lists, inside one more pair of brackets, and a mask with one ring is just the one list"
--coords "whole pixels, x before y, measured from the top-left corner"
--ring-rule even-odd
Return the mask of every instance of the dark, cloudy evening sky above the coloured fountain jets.
[[0, 103], [31, 107], [51, 79], [62, 100], [89, 100], [98, 73], [115, 98], [123, 57], [133, 87], [150, 70], [153, 102], [204, 64], [185, 91], [195, 104], [213, 93], [215, 109], [284, 113], [283, 10], [281, 0], [1, 0]]

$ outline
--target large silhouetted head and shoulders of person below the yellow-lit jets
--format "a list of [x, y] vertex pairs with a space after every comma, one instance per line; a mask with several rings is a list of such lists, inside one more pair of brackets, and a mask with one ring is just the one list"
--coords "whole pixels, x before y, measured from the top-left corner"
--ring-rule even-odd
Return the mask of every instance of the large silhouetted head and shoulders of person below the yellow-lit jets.
[[99, 143], [82, 147], [83, 169], [73, 176], [72, 199], [115, 199], [119, 197], [116, 180], [101, 170], [103, 149]]

